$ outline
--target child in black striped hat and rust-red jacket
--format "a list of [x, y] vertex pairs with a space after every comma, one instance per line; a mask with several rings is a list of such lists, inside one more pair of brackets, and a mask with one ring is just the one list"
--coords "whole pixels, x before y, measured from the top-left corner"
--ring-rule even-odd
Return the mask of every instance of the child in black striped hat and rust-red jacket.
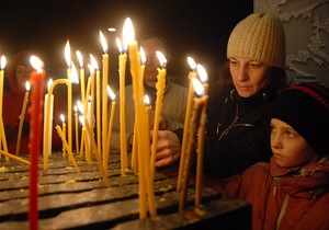
[[288, 88], [271, 114], [270, 163], [206, 181], [252, 206], [252, 229], [329, 229], [329, 89]]

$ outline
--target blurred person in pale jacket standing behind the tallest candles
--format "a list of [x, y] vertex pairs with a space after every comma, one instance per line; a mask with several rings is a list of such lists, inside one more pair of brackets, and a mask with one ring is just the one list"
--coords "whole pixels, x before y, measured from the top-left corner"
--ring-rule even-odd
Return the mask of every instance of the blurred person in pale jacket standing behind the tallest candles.
[[[150, 116], [150, 125], [152, 126], [154, 110], [156, 107], [157, 90], [156, 83], [158, 81], [158, 68], [160, 62], [156, 55], [156, 51], [161, 51], [169, 61], [169, 54], [167, 54], [164, 39], [154, 35], [145, 35], [139, 45], [143, 47], [146, 56], [145, 76], [144, 76], [144, 89], [145, 93], [149, 96], [152, 107], [152, 115]], [[170, 79], [166, 78], [166, 87], [162, 100], [162, 114], [159, 128], [162, 130], [174, 130], [182, 128], [185, 119], [186, 101], [189, 90], [185, 87], [170, 82]], [[126, 137], [127, 147], [132, 148], [134, 137], [135, 125], [135, 102], [133, 100], [133, 85], [129, 84], [125, 88], [125, 103], [126, 103]], [[120, 102], [120, 91], [116, 92], [116, 102]], [[116, 106], [117, 108], [120, 105]], [[111, 150], [120, 151], [120, 110], [115, 110], [112, 137], [111, 137]]]

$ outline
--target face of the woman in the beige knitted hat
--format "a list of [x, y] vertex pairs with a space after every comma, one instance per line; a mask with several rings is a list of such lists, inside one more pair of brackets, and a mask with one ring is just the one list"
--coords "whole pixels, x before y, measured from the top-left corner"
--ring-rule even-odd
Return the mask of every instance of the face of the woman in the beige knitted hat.
[[230, 58], [229, 71], [234, 85], [242, 97], [254, 95], [266, 87], [271, 78], [269, 65], [247, 58]]

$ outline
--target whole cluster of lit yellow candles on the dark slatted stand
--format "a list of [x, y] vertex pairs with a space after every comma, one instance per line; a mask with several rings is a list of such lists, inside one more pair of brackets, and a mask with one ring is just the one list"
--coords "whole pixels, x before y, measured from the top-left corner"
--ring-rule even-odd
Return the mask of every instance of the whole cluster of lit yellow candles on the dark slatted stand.
[[[123, 30], [123, 44], [117, 38], [117, 46], [120, 49], [118, 57], [118, 73], [120, 73], [120, 124], [121, 124], [121, 169], [122, 175], [125, 174], [125, 170], [128, 168], [127, 165], [127, 148], [126, 148], [126, 137], [125, 137], [125, 69], [127, 61], [127, 53], [129, 54], [131, 61], [131, 73], [132, 73], [132, 82], [134, 89], [134, 102], [136, 108], [136, 123], [135, 123], [135, 135], [134, 135], [134, 145], [133, 145], [133, 154], [132, 154], [132, 164], [138, 168], [138, 181], [139, 181], [139, 217], [140, 219], [145, 219], [147, 217], [147, 205], [149, 206], [150, 216], [156, 216], [156, 206], [155, 206], [155, 194], [154, 194], [154, 172], [155, 172], [155, 159], [156, 159], [156, 146], [158, 139], [158, 129], [159, 129], [159, 120], [161, 114], [162, 106], [162, 97], [163, 90], [166, 84], [166, 64], [167, 60], [164, 56], [157, 51], [157, 56], [159, 58], [161, 68], [158, 69], [158, 82], [156, 84], [157, 89], [157, 102], [155, 108], [155, 126], [154, 126], [154, 137], [152, 141], [150, 141], [149, 137], [149, 111], [150, 106], [145, 103], [145, 94], [144, 94], [144, 62], [146, 60], [143, 48], [138, 50], [138, 44], [134, 38], [134, 28], [132, 21], [127, 19], [124, 24]], [[98, 164], [100, 166], [100, 171], [102, 173], [104, 183], [107, 187], [110, 187], [110, 181], [107, 177], [107, 161], [109, 161], [109, 152], [110, 152], [110, 142], [111, 142], [111, 130], [113, 124], [113, 116], [115, 110], [115, 95], [113, 91], [110, 89], [107, 84], [109, 80], [109, 55], [107, 55], [107, 45], [106, 41], [100, 32], [101, 43], [103, 46], [103, 67], [102, 67], [102, 88], [100, 82], [100, 70], [97, 65], [95, 59], [92, 55], [90, 67], [90, 77], [88, 78], [87, 89], [84, 85], [84, 69], [83, 69], [83, 60], [80, 51], [77, 51], [77, 57], [80, 64], [80, 87], [81, 87], [81, 101], [77, 102], [75, 106], [75, 118], [76, 118], [76, 150], [77, 153], [80, 152], [82, 154], [83, 150], [86, 151], [86, 160], [90, 164], [91, 163], [91, 154], [93, 153], [98, 160]], [[45, 95], [44, 103], [44, 137], [43, 137], [43, 152], [44, 152], [44, 170], [48, 169], [48, 156], [52, 153], [52, 124], [53, 124], [53, 103], [54, 96], [53, 91], [57, 84], [66, 84], [68, 87], [68, 116], [67, 116], [67, 126], [65, 123], [65, 118], [63, 118], [63, 126], [60, 128], [59, 125], [56, 126], [56, 130], [59, 137], [63, 140], [63, 153], [64, 156], [68, 153], [69, 161], [73, 164], [77, 172], [79, 168], [75, 161], [72, 153], [72, 83], [78, 83], [78, 73], [73, 62], [70, 59], [70, 46], [69, 42], [67, 42], [65, 47], [65, 56], [67, 61], [67, 79], [57, 79], [55, 81], [49, 80], [48, 82], [48, 93]], [[201, 65], [196, 65], [192, 58], [188, 58], [188, 61], [192, 68], [192, 71], [189, 73], [190, 88], [189, 88], [189, 99], [186, 105], [186, 115], [185, 115], [185, 124], [184, 124], [184, 136], [182, 143], [182, 152], [181, 152], [181, 165], [179, 172], [178, 180], [178, 191], [182, 191], [181, 200], [180, 200], [180, 209], [184, 208], [184, 203], [186, 198], [186, 189], [188, 182], [190, 177], [190, 168], [191, 168], [191, 156], [193, 145], [195, 142], [196, 133], [197, 136], [197, 176], [196, 176], [196, 197], [195, 205], [200, 205], [200, 194], [201, 194], [201, 174], [202, 174], [202, 161], [203, 161], [203, 135], [204, 135], [204, 124], [205, 124], [205, 107], [207, 103], [207, 76], [206, 71]], [[4, 67], [3, 67], [4, 68]], [[1, 64], [0, 71], [0, 81], [3, 81], [3, 68]], [[1, 77], [2, 74], [2, 77]], [[32, 73], [33, 74], [33, 73]], [[38, 74], [45, 74], [44, 71]], [[197, 79], [200, 77], [201, 81]], [[2, 85], [0, 85], [0, 90]], [[33, 89], [35, 90], [35, 89]], [[37, 91], [37, 90], [36, 90]], [[26, 93], [24, 97], [24, 103], [22, 107], [22, 113], [20, 116], [20, 127], [21, 123], [24, 119], [24, 113], [26, 110], [26, 103], [29, 100], [30, 85], [26, 83]], [[195, 96], [195, 93], [197, 96]], [[110, 114], [110, 120], [107, 118], [107, 94], [111, 95], [112, 99], [112, 107]], [[102, 99], [101, 99], [102, 95]], [[2, 110], [2, 91], [0, 92], [0, 102]], [[42, 100], [39, 100], [42, 101]], [[94, 104], [95, 103], [95, 104]], [[102, 103], [102, 104], [101, 104]], [[194, 104], [194, 105], [193, 105]], [[95, 134], [94, 134], [94, 117], [93, 111], [95, 106]], [[80, 141], [78, 139], [78, 110], [81, 113], [79, 119], [82, 124], [81, 138]], [[2, 111], [0, 111], [2, 114]], [[35, 113], [35, 111], [33, 112]], [[101, 119], [102, 113], [102, 119]], [[0, 119], [0, 129], [3, 129], [2, 116]], [[35, 130], [32, 127], [33, 138], [37, 138], [39, 136], [35, 136]], [[1, 131], [1, 130], [0, 130]], [[4, 134], [1, 131], [1, 134]], [[3, 147], [2, 152], [7, 152], [7, 143], [5, 138], [2, 138], [1, 135], [1, 146]], [[94, 137], [97, 136], [97, 141]], [[149, 148], [150, 142], [152, 142], [151, 148]], [[18, 138], [18, 150], [16, 154], [19, 154], [20, 145], [20, 133]], [[80, 147], [80, 148], [79, 148]], [[13, 159], [19, 159], [24, 163], [31, 164], [31, 174], [37, 174], [37, 160], [32, 162], [32, 156], [37, 156], [39, 152], [36, 149], [36, 146], [31, 147], [31, 162], [24, 161], [18, 157], [13, 157], [8, 153], [4, 156], [9, 156]], [[36, 158], [37, 159], [37, 158]], [[32, 168], [32, 164], [34, 168]], [[35, 168], [36, 164], [36, 168]], [[34, 170], [32, 170], [34, 169]], [[32, 179], [31, 179], [32, 180]], [[37, 184], [37, 176], [33, 177], [31, 184]], [[37, 195], [37, 192], [36, 192]], [[34, 193], [35, 196], [35, 193]], [[35, 197], [34, 197], [35, 202]]]

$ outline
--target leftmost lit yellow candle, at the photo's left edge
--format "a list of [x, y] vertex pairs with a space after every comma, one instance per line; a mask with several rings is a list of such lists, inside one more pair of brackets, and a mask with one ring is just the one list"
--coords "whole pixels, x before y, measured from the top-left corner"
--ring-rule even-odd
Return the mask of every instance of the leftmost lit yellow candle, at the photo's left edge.
[[[1, 60], [0, 60], [0, 149], [3, 146], [3, 150], [8, 152], [8, 147], [7, 147], [7, 139], [4, 135], [4, 126], [3, 126], [3, 119], [2, 119], [2, 101], [3, 101], [3, 77], [4, 77], [4, 67], [7, 64], [5, 57], [2, 55]], [[1, 156], [0, 156], [1, 157]], [[9, 158], [5, 157], [5, 161], [9, 161]]]

